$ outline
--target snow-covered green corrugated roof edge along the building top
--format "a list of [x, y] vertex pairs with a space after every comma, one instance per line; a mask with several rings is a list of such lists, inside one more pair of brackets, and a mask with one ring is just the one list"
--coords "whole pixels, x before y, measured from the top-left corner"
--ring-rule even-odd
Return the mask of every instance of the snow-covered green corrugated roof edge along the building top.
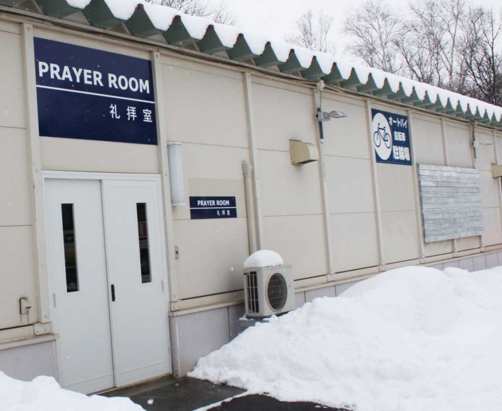
[[[64, 18], [81, 11], [91, 26], [107, 29], [123, 24], [133, 36], [162, 34], [167, 43], [176, 46], [196, 45], [208, 54], [226, 51], [233, 60], [253, 60], [260, 67], [300, 73], [310, 80], [322, 79], [327, 84], [502, 128], [501, 107], [145, 0], [65, 0], [67, 6], [62, 2], [58, 8], [45, 7], [50, 0], [36, 1], [44, 13], [54, 17]], [[110, 15], [116, 20], [110, 19]]]

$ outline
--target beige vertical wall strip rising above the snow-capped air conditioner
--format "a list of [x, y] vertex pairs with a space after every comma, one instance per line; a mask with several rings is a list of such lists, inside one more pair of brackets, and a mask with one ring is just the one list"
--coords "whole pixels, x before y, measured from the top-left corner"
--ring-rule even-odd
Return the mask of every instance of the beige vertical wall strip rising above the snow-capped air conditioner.
[[242, 73], [244, 81], [244, 93], [246, 100], [246, 118], [247, 118], [247, 137], [249, 140], [249, 157], [251, 160], [252, 175], [253, 175], [253, 200], [255, 208], [255, 227], [256, 227], [256, 242], [259, 250], [263, 247], [263, 216], [262, 216], [262, 200], [260, 196], [260, 173], [258, 170], [258, 147], [256, 144], [255, 130], [255, 110], [253, 106], [253, 90], [251, 84], [251, 74], [249, 72]]

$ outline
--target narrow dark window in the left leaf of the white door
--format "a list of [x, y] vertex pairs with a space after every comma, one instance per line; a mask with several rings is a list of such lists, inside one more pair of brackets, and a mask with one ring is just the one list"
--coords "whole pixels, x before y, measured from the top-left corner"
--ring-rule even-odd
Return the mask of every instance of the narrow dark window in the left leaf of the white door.
[[75, 249], [75, 224], [73, 204], [61, 204], [63, 218], [64, 262], [66, 269], [66, 291], [78, 291], [77, 251]]

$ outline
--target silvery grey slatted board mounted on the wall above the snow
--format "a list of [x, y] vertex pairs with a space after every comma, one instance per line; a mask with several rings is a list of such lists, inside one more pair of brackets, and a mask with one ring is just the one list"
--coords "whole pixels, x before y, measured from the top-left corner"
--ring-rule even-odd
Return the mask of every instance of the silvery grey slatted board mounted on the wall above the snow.
[[483, 233], [476, 169], [418, 165], [425, 242]]

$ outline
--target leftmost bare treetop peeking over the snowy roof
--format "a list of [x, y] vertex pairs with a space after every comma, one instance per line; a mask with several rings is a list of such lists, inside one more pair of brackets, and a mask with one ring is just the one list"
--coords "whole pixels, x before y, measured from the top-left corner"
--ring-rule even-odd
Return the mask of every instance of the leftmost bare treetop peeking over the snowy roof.
[[207, 17], [219, 24], [235, 25], [237, 17], [232, 14], [223, 0], [215, 7], [206, 0], [146, 0], [154, 5], [167, 6], [177, 9], [189, 16]]

